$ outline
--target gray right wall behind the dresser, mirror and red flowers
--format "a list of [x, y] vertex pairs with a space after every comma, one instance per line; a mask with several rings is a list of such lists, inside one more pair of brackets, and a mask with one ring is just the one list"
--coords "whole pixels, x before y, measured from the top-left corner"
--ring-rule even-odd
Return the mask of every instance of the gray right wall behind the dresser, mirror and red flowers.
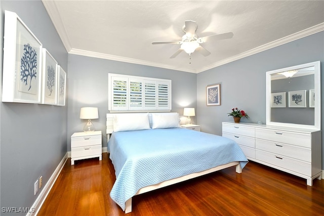
[[[233, 121], [227, 113], [233, 107], [247, 112], [244, 122], [266, 121], [266, 71], [321, 61], [324, 83], [324, 31], [275, 47], [237, 61], [212, 68], [197, 75], [197, 122], [201, 130], [222, 134], [222, 122]], [[206, 86], [221, 84], [221, 105], [206, 105]], [[322, 86], [321, 86], [322, 87]], [[321, 88], [321, 125], [324, 125], [324, 88]], [[322, 167], [324, 136], [322, 130]], [[323, 168], [322, 168], [323, 169]]]

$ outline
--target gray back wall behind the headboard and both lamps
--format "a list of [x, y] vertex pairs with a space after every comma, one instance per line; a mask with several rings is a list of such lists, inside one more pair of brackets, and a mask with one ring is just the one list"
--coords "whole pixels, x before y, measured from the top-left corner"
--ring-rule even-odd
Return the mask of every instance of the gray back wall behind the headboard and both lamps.
[[[196, 107], [196, 74], [73, 54], [68, 55], [68, 68], [68, 137], [86, 124], [79, 119], [80, 107], [97, 106], [99, 119], [92, 122], [102, 131], [102, 147], [107, 147], [108, 73], [172, 80], [172, 112], [182, 115], [183, 107]], [[67, 150], [71, 151], [69, 138]]]

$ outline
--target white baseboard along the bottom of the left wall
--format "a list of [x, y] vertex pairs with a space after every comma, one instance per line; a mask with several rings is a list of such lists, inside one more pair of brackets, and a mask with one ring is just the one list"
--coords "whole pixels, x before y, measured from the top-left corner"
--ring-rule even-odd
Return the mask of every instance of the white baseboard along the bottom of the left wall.
[[67, 160], [67, 155], [68, 155], [67, 153], [64, 155], [61, 162], [56, 167], [55, 171], [53, 172], [52, 176], [50, 177], [49, 181], [44, 186], [44, 189], [41, 191], [41, 193], [39, 193], [34, 204], [31, 206], [31, 209], [34, 209], [34, 212], [29, 212], [26, 215], [37, 215], [39, 209], [41, 209], [46, 197], [49, 195], [54, 183], [56, 182], [56, 179], [59, 176], [59, 174]]

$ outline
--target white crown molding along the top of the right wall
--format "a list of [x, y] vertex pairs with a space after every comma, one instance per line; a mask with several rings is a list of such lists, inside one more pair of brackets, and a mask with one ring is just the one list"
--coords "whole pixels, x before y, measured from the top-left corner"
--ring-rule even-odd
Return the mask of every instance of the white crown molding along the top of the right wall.
[[245, 58], [245, 57], [248, 57], [250, 55], [254, 55], [254, 54], [263, 52], [265, 50], [268, 50], [268, 49], [271, 49], [271, 48], [274, 48], [274, 47], [277, 47], [277, 46], [280, 46], [280, 45], [283, 45], [283, 44], [287, 44], [287, 43], [292, 42], [292, 41], [296, 41], [298, 39], [307, 37], [307, 36], [309, 36], [311, 34], [314, 34], [314, 33], [317, 33], [317, 32], [323, 31], [323, 30], [324, 30], [324, 22], [322, 22], [322, 23], [320, 23], [318, 25], [312, 26], [310, 28], [306, 28], [304, 30], [301, 30], [301, 31], [299, 31], [297, 33], [288, 35], [287, 37], [284, 37], [284, 38], [278, 39], [276, 41], [270, 42], [268, 44], [259, 46], [257, 48], [252, 49], [252, 50], [249, 50], [247, 52], [240, 53], [239, 55], [236, 55], [236, 56], [233, 56], [233, 57], [230, 57], [230, 58], [215, 62], [213, 64], [210, 64], [210, 65], [208, 65], [206, 67], [201, 68], [200, 70], [197, 70], [197, 74], [201, 73], [203, 71], [206, 71], [208, 69], [212, 69], [214, 67], [218, 67], [218, 66], [221, 66], [223, 64], [227, 64], [229, 62], [236, 61], [238, 59]]

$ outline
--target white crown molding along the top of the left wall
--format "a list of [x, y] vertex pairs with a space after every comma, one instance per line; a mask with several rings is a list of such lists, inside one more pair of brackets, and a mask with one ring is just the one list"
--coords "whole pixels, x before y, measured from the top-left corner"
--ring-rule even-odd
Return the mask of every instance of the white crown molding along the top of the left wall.
[[57, 33], [61, 38], [66, 51], [69, 52], [72, 49], [72, 46], [66, 33], [66, 29], [64, 28], [60, 13], [58, 12], [58, 9], [56, 7], [55, 1], [42, 0], [42, 2], [47, 13], [49, 14], [50, 19], [52, 20]]

